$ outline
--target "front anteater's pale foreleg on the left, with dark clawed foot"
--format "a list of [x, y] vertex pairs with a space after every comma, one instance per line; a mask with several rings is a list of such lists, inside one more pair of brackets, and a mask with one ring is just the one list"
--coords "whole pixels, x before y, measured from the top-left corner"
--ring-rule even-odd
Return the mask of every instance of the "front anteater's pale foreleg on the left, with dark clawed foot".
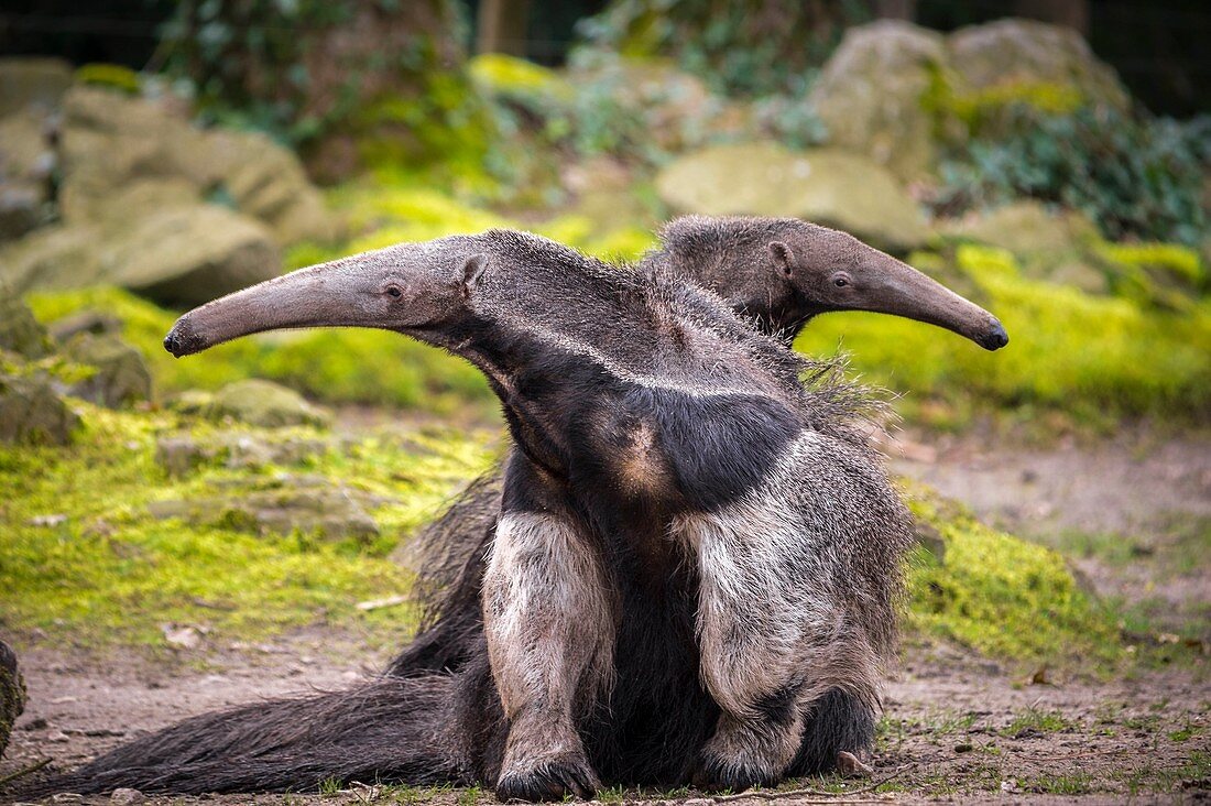
[[509, 507], [483, 581], [488, 657], [510, 725], [497, 796], [591, 798], [598, 782], [576, 719], [612, 681], [615, 598], [572, 518]]

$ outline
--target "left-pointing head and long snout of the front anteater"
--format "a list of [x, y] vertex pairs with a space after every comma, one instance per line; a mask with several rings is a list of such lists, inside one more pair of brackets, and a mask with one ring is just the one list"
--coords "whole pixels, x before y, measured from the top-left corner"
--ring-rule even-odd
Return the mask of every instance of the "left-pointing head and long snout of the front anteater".
[[377, 327], [424, 337], [467, 309], [488, 256], [482, 238], [400, 244], [299, 269], [195, 308], [163, 339], [180, 358], [289, 327]]

